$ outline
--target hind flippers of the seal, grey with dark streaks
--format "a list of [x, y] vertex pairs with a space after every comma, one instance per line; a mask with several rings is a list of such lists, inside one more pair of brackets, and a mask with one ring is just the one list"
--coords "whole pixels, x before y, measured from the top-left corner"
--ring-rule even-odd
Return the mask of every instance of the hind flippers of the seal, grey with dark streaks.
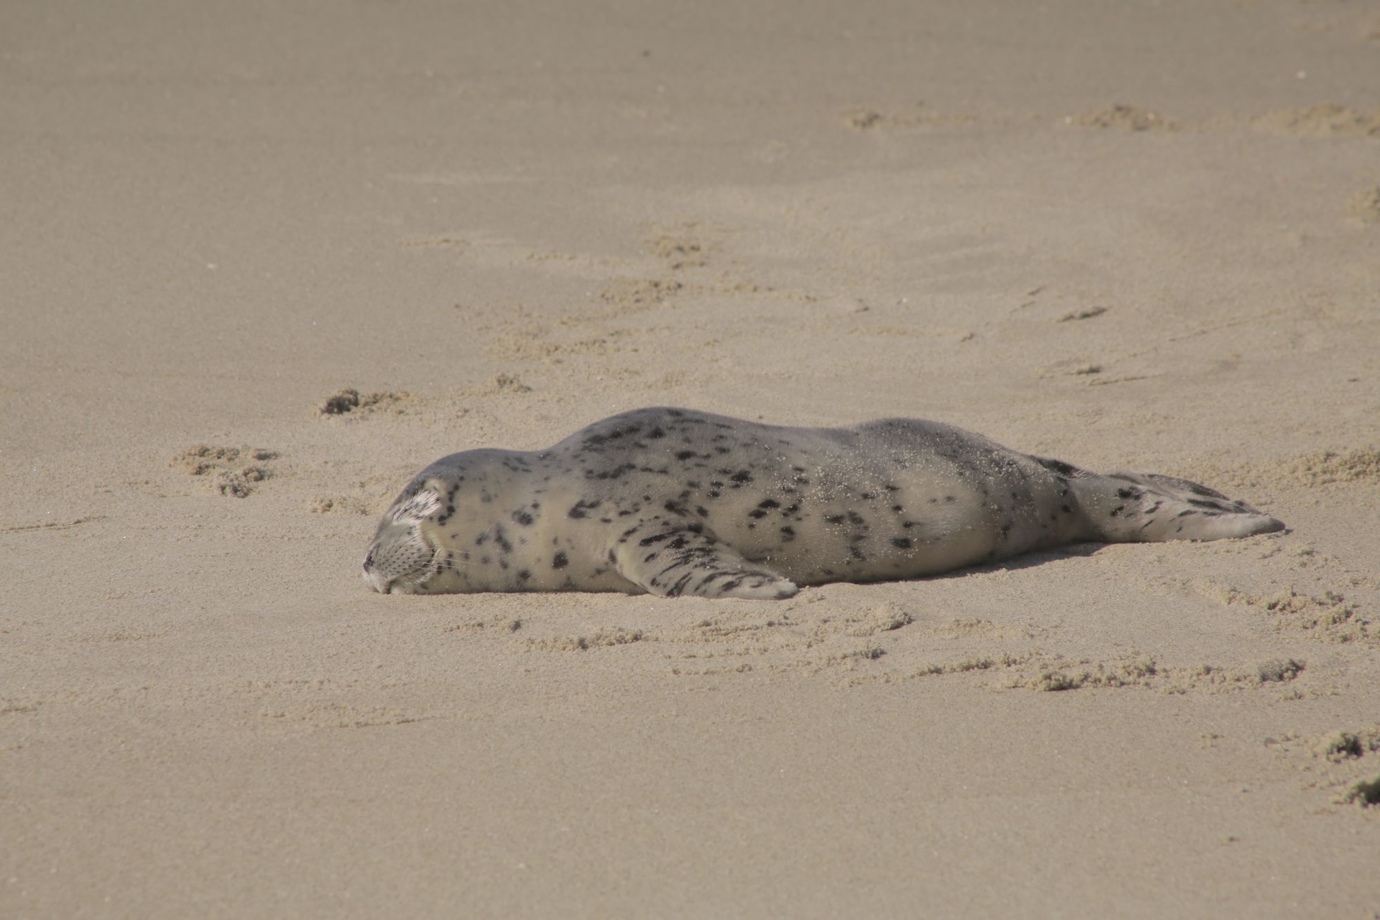
[[1071, 485], [1092, 537], [1107, 543], [1224, 540], [1285, 529], [1245, 501], [1158, 472], [1110, 472]]

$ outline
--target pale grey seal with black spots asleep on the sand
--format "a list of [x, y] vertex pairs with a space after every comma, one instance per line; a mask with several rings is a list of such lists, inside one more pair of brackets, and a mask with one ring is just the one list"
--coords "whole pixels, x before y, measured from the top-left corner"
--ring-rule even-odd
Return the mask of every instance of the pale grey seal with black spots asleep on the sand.
[[364, 583], [393, 594], [787, 598], [1074, 542], [1220, 540], [1283, 524], [1187, 479], [1100, 475], [918, 419], [787, 428], [638, 409], [546, 450], [465, 450], [384, 514]]

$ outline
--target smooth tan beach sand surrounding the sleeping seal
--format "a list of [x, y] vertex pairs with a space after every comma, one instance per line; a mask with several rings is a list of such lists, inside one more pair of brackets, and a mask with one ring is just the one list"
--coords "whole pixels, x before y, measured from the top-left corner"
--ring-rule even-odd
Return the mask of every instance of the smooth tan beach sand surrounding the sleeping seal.
[[[0, 914], [1380, 910], [1373, 4], [6, 4], [0, 86]], [[658, 403], [1290, 529], [362, 587]]]

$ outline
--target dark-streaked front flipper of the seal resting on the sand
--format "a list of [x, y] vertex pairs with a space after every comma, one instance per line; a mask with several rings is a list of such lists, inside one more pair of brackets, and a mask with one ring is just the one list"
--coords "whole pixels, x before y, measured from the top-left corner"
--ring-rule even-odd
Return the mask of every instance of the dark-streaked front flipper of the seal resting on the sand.
[[774, 601], [792, 597], [795, 582], [744, 559], [702, 525], [650, 518], [618, 536], [618, 573], [650, 594], [737, 597]]

